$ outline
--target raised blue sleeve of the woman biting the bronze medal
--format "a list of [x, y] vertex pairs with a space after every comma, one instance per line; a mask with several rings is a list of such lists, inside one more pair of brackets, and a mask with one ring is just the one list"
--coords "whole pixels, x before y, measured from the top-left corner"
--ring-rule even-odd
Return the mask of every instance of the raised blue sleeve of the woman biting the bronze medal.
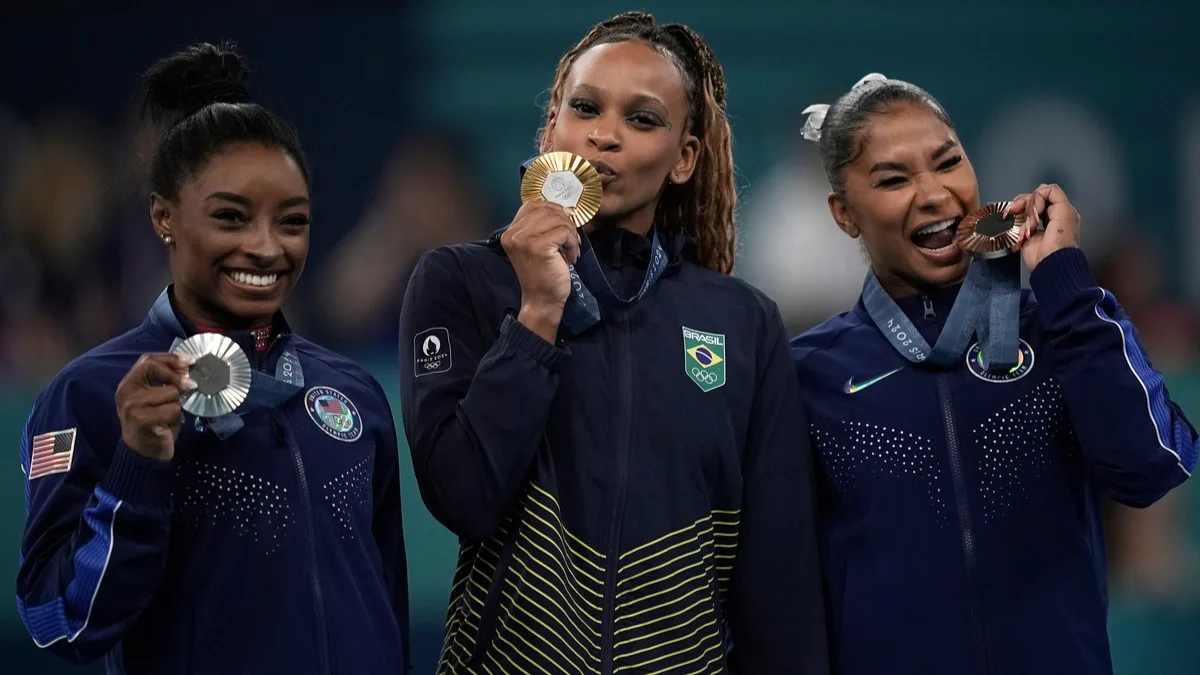
[[1030, 286], [1054, 346], [1055, 378], [1094, 478], [1117, 501], [1152, 504], [1195, 468], [1195, 429], [1171, 401], [1129, 317], [1097, 285], [1082, 251], [1046, 256]]

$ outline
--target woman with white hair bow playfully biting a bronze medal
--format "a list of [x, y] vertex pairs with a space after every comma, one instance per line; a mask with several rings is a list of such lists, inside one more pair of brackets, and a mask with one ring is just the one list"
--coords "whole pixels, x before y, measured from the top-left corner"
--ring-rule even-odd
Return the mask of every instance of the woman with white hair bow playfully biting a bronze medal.
[[[853, 307], [792, 341], [834, 670], [1111, 675], [1100, 507], [1182, 484], [1198, 435], [1092, 276], [1080, 214], [1040, 185], [988, 207], [1004, 227], [976, 220], [967, 150], [912, 83], [872, 73], [806, 112], [830, 215], [871, 263]], [[978, 247], [1001, 234], [1012, 257]]]

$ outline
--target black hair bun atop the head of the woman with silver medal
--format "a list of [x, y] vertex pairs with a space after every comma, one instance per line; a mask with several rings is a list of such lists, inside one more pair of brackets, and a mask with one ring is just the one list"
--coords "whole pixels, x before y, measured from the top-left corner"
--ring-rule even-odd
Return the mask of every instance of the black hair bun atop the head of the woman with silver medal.
[[235, 46], [200, 42], [160, 59], [142, 76], [142, 114], [176, 120], [211, 103], [246, 103], [250, 70]]

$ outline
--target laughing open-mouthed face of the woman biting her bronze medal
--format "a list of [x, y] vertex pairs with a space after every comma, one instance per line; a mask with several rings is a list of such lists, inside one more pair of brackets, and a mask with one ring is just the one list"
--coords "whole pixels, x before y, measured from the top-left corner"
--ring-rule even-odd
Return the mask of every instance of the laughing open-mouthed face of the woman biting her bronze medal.
[[905, 102], [871, 115], [862, 133], [845, 197], [829, 196], [838, 226], [863, 238], [893, 297], [961, 281], [970, 258], [954, 232], [979, 208], [979, 184], [954, 130], [928, 106]]

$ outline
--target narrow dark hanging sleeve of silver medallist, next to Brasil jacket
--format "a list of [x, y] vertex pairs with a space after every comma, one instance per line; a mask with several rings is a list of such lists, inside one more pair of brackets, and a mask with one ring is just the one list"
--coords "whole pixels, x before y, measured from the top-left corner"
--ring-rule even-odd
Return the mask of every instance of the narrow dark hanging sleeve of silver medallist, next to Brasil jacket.
[[383, 562], [384, 583], [391, 597], [391, 608], [400, 626], [404, 649], [404, 673], [413, 669], [410, 619], [408, 605], [408, 556], [404, 552], [404, 512], [401, 507], [400, 449], [396, 443], [396, 423], [383, 388], [374, 383], [383, 401], [385, 424], [376, 441], [374, 518], [371, 533]]

